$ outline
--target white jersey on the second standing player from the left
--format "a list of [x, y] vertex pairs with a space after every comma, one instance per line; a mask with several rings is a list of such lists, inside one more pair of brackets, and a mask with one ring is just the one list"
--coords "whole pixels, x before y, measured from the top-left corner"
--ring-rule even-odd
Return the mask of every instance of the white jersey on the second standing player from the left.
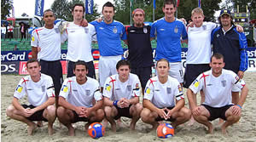
[[96, 30], [91, 24], [88, 26], [77, 26], [73, 22], [67, 25], [62, 35], [62, 41], [67, 41], [67, 60], [76, 62], [93, 60], [91, 54], [91, 41], [95, 40]]

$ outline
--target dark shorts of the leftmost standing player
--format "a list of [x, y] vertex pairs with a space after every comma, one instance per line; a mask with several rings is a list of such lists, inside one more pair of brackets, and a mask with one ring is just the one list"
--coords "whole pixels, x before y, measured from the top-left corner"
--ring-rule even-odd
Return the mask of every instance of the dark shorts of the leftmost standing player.
[[41, 72], [52, 77], [55, 86], [55, 95], [58, 96], [63, 82], [62, 65], [60, 60], [47, 61], [39, 60], [41, 65]]

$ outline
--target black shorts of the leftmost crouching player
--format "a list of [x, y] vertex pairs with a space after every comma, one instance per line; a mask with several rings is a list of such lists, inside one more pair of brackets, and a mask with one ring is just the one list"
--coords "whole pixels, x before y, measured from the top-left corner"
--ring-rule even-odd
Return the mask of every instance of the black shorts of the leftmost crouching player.
[[[34, 105], [21, 105], [23, 108], [30, 108], [33, 109], [36, 106]], [[40, 110], [40, 111], [36, 111], [34, 114], [32, 114], [32, 116], [26, 117], [26, 119], [30, 120], [30, 121], [44, 121], [44, 122], [48, 122], [48, 120], [46, 118], [44, 118], [43, 116], [44, 110]]]

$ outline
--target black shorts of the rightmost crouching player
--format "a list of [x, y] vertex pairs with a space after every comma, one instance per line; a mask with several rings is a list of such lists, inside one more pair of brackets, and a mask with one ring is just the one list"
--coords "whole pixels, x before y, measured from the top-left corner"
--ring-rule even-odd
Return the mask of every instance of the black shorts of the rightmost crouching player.
[[217, 118], [227, 120], [225, 113], [231, 106], [233, 106], [233, 105], [225, 105], [223, 107], [212, 107], [209, 105], [204, 105], [204, 104], [202, 105], [210, 112], [210, 117], [208, 117], [209, 121], [215, 120]]

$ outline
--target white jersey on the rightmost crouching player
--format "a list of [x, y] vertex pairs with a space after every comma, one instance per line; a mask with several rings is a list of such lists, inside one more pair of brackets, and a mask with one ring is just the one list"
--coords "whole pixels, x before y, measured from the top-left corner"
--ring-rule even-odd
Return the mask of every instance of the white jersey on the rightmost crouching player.
[[206, 96], [203, 104], [212, 107], [222, 107], [231, 105], [231, 90], [236, 85], [238, 88], [243, 88], [245, 82], [241, 80], [235, 72], [222, 70], [219, 77], [212, 75], [212, 70], [203, 72], [189, 88], [196, 94], [203, 89]]

